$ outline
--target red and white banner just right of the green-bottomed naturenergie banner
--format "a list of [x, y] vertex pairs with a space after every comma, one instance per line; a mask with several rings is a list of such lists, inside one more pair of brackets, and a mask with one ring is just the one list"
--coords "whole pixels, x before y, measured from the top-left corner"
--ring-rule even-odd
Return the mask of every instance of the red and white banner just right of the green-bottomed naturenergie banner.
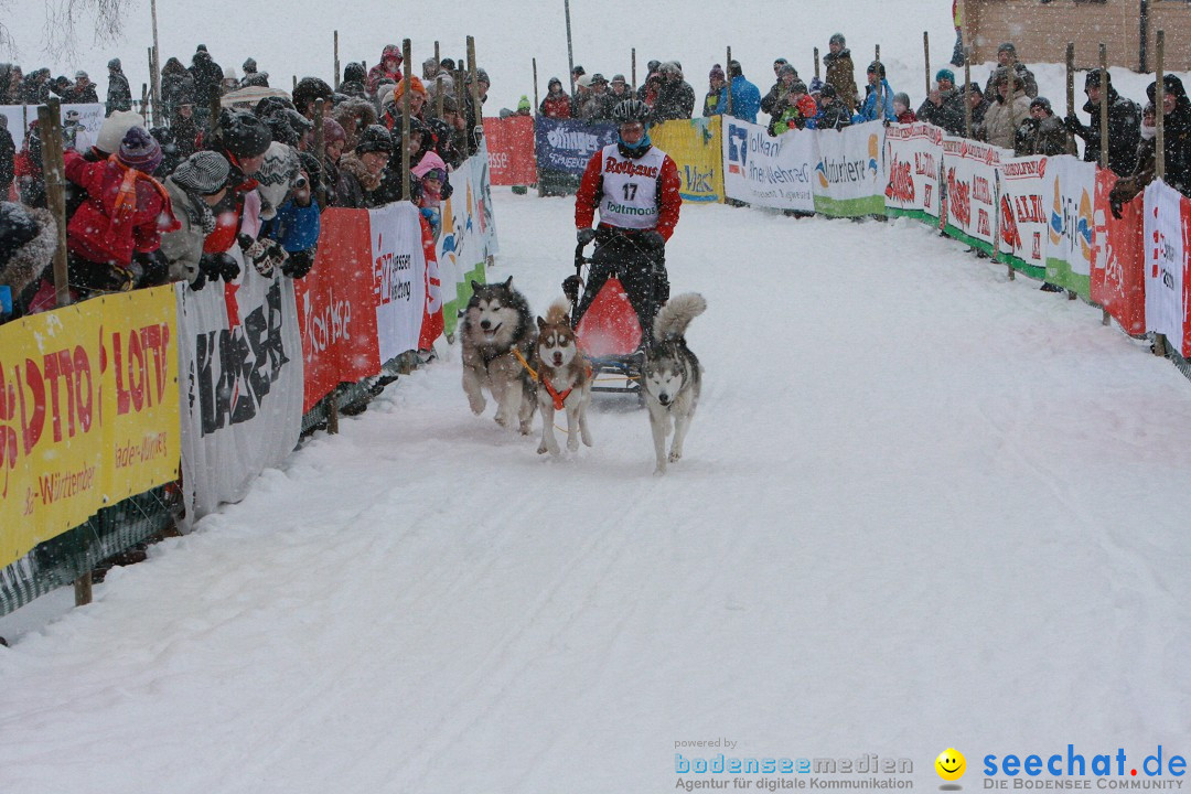
[[933, 124], [891, 124], [885, 130], [885, 214], [939, 223], [939, 167], [943, 131]]

